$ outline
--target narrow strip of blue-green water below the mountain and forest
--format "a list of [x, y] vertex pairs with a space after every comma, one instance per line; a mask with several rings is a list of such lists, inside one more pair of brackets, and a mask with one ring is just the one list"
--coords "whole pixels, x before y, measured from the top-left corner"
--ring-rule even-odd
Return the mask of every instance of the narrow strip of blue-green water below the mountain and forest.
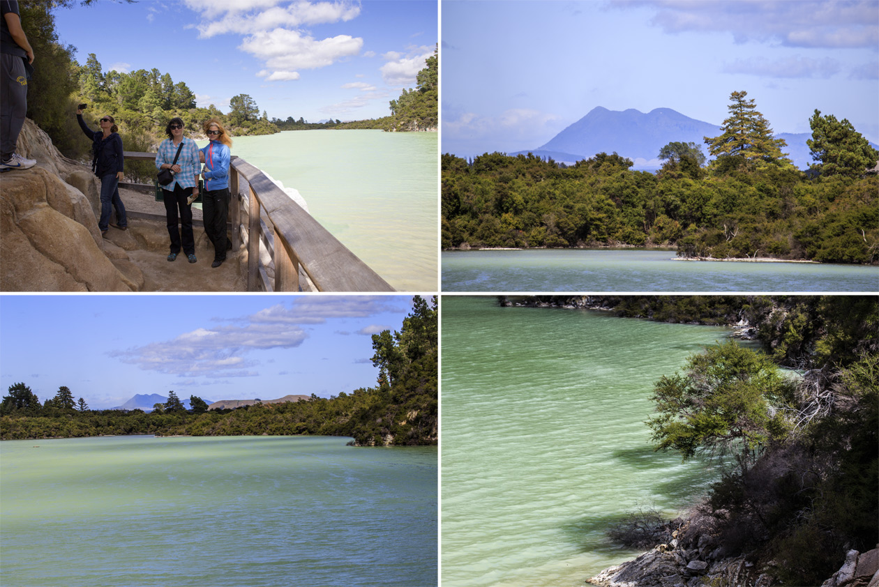
[[673, 250], [442, 253], [444, 292], [875, 292], [879, 267], [675, 260]]

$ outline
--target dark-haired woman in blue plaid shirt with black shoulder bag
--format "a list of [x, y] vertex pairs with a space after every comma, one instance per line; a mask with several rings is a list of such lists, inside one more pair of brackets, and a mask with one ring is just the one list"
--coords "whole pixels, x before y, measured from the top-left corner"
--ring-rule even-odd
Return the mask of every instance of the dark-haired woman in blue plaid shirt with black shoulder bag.
[[[171, 236], [171, 254], [168, 260], [177, 258], [182, 242], [183, 252], [190, 263], [195, 263], [195, 237], [193, 236], [193, 207], [190, 196], [199, 195], [199, 147], [192, 139], [183, 135], [183, 120], [173, 118], [165, 127], [168, 138], [159, 145], [156, 153], [156, 169], [167, 169], [174, 172], [170, 184], [162, 185], [164, 192], [165, 216], [168, 219], [168, 235]], [[180, 156], [177, 163], [174, 157], [180, 144]], [[193, 199], [195, 199], [193, 197]], [[178, 210], [180, 212], [180, 228], [178, 229]]]

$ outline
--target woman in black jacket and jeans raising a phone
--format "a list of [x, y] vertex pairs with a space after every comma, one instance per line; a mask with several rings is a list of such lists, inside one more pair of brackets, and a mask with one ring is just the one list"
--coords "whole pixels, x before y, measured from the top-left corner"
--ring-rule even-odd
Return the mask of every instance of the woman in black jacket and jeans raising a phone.
[[98, 131], [91, 130], [85, 124], [82, 110], [76, 111], [76, 120], [85, 136], [91, 139], [91, 152], [94, 154], [91, 170], [101, 180], [101, 218], [98, 221], [101, 235], [107, 234], [111, 207], [116, 208], [116, 221], [119, 222], [113, 224], [113, 227], [125, 230], [128, 228], [128, 219], [125, 215], [125, 204], [119, 197], [119, 182], [125, 168], [125, 157], [122, 156], [122, 137], [117, 134], [119, 127], [109, 114], [101, 119], [101, 129]]

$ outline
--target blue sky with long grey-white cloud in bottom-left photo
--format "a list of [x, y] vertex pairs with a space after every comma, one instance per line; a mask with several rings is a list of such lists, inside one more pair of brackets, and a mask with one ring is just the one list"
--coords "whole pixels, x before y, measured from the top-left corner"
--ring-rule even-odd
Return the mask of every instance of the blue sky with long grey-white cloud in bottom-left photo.
[[329, 397], [375, 385], [371, 335], [400, 330], [397, 295], [16, 295], [0, 298], [2, 394], [62, 385], [92, 409], [135, 394]]

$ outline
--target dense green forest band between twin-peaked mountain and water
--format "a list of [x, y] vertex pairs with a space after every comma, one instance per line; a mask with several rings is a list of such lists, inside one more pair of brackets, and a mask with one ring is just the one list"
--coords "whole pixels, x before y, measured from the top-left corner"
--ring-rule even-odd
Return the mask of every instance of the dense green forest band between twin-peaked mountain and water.
[[810, 123], [817, 163], [809, 174], [778, 152], [777, 141], [771, 156], [712, 151], [707, 166], [693, 143], [670, 143], [657, 174], [630, 170], [615, 153], [571, 166], [532, 155], [445, 154], [442, 246], [672, 246], [683, 257], [875, 263], [879, 177], [867, 169], [879, 154], [847, 120], [816, 111]]

